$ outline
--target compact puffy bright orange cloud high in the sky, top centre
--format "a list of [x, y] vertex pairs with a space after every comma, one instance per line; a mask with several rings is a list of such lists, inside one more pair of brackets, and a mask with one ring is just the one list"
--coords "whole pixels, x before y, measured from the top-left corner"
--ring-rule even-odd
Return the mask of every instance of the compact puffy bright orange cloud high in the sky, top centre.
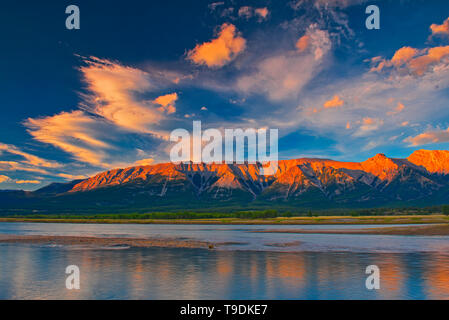
[[187, 58], [198, 65], [219, 68], [234, 60], [245, 48], [246, 40], [239, 35], [236, 27], [224, 23], [216, 39], [198, 44], [188, 52]]

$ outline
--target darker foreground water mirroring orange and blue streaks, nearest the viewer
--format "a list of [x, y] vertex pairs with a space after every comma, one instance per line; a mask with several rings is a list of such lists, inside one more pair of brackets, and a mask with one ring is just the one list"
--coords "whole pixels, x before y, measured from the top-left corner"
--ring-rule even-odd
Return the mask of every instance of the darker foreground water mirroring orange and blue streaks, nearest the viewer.
[[[1, 299], [449, 299], [439, 253], [74, 250], [0, 245]], [[65, 289], [65, 268], [81, 290]], [[365, 288], [365, 268], [381, 289]]]

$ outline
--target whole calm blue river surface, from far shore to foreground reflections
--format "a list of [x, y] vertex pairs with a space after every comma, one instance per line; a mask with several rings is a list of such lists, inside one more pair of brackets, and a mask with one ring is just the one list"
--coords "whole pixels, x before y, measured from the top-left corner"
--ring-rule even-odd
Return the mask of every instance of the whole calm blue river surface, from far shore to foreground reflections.
[[[2, 244], [0, 299], [449, 299], [449, 237], [252, 232], [306, 228], [354, 226], [0, 223], [0, 234], [239, 243], [220, 250]], [[72, 264], [81, 270], [79, 291], [65, 288]], [[372, 264], [380, 290], [365, 288]]]

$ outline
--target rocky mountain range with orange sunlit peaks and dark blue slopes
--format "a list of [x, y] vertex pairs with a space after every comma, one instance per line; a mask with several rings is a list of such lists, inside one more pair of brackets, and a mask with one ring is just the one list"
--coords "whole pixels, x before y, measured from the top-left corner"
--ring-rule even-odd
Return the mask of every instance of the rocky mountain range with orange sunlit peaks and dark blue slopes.
[[34, 192], [1, 191], [0, 203], [3, 214], [431, 206], [449, 203], [449, 151], [363, 162], [281, 160], [273, 176], [247, 163], [137, 166]]

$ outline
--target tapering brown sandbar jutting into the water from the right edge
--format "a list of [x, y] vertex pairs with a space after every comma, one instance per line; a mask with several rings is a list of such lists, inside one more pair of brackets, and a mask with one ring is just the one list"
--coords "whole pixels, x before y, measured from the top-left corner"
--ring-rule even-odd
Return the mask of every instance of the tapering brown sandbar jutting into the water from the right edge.
[[391, 236], [449, 236], [449, 224], [406, 227], [382, 227], [373, 229], [326, 229], [326, 230], [257, 230], [256, 233], [297, 233], [297, 234], [354, 234]]

